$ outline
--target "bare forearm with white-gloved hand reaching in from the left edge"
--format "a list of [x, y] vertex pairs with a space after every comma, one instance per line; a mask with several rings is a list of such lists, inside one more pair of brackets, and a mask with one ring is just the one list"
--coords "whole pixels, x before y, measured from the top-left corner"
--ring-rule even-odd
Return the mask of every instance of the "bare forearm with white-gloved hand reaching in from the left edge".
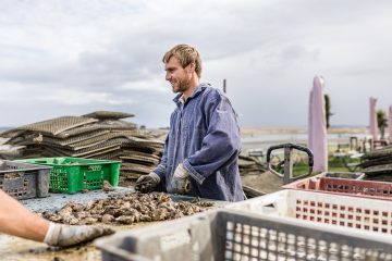
[[42, 241], [49, 246], [70, 247], [113, 234], [103, 226], [68, 226], [50, 223], [29, 212], [15, 199], [0, 190], [0, 233]]

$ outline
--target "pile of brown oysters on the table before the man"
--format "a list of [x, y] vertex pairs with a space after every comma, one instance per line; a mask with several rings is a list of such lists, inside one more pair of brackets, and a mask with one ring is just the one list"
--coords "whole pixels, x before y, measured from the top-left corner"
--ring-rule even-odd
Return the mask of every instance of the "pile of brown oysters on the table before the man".
[[111, 196], [94, 200], [86, 206], [70, 202], [56, 212], [44, 212], [45, 219], [70, 225], [88, 225], [95, 223], [133, 224], [173, 220], [184, 215], [201, 212], [213, 203], [206, 201], [174, 202], [163, 192], [127, 192], [123, 196]]

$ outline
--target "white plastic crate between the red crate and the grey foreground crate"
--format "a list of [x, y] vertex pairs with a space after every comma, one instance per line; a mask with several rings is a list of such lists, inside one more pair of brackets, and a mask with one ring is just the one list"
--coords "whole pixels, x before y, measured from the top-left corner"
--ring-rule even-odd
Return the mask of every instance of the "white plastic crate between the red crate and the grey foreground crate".
[[392, 234], [392, 201], [385, 200], [286, 189], [225, 208]]

